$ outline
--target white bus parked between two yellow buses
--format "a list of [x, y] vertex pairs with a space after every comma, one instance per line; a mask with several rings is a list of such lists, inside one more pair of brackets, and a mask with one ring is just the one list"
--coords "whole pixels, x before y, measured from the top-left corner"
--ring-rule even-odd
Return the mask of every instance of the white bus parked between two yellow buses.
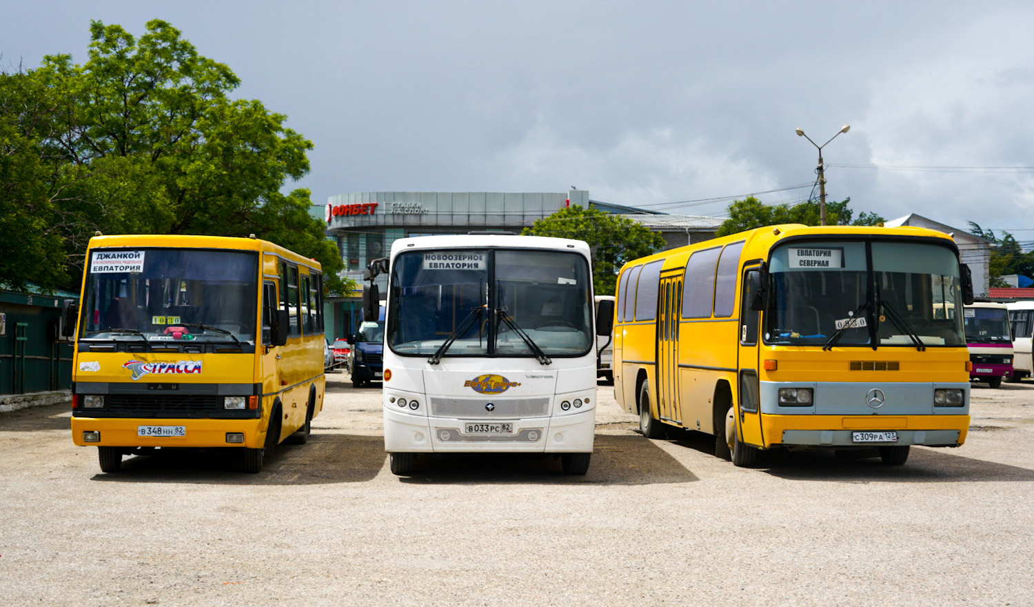
[[[396, 475], [421, 454], [555, 454], [584, 475], [596, 427], [588, 246], [512, 235], [400, 239], [388, 271], [385, 450]], [[386, 263], [387, 262], [387, 263]], [[376, 286], [364, 305], [376, 302]], [[373, 304], [370, 303], [372, 306]], [[372, 310], [371, 310], [372, 311]]]

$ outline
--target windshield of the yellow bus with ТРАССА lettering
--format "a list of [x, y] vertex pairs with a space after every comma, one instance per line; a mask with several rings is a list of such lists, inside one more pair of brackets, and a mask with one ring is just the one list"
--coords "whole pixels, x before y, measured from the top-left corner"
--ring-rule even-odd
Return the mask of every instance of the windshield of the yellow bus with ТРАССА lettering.
[[254, 252], [94, 249], [80, 336], [254, 341], [257, 280]]

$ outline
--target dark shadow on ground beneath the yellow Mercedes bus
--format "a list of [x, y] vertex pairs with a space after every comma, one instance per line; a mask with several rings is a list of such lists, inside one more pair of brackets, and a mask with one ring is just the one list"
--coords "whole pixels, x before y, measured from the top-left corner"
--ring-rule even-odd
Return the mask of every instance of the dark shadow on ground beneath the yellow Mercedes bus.
[[861, 450], [838, 456], [833, 451], [772, 450], [759, 454], [756, 467], [791, 481], [840, 483], [1032, 482], [1034, 469], [954, 455], [950, 449], [913, 447], [904, 465], [886, 465], [879, 453]]

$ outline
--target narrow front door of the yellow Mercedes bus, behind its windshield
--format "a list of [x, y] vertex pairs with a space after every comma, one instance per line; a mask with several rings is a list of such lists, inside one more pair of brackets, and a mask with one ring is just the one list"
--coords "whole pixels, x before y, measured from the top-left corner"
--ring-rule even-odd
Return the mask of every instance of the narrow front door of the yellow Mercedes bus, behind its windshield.
[[736, 413], [740, 439], [747, 445], [764, 447], [761, 434], [761, 398], [758, 378], [758, 359], [761, 348], [760, 312], [752, 310], [754, 298], [761, 289], [761, 268], [752, 266], [743, 270], [742, 295], [739, 301], [739, 363], [737, 365]]

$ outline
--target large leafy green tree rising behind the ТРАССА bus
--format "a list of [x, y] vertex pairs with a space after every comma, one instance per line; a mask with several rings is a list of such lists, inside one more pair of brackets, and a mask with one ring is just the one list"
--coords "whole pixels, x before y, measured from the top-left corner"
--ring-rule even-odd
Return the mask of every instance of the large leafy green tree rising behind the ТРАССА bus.
[[83, 65], [56, 55], [0, 74], [30, 81], [43, 109], [30, 141], [45, 166], [36, 196], [65, 239], [61, 267], [72, 283], [89, 237], [101, 231], [254, 234], [321, 262], [328, 286], [343, 289], [340, 255], [308, 215], [308, 190], [281, 192], [308, 173], [312, 149], [285, 116], [231, 99], [234, 72], [163, 21], [149, 22], [139, 39], [93, 22], [90, 38]]

